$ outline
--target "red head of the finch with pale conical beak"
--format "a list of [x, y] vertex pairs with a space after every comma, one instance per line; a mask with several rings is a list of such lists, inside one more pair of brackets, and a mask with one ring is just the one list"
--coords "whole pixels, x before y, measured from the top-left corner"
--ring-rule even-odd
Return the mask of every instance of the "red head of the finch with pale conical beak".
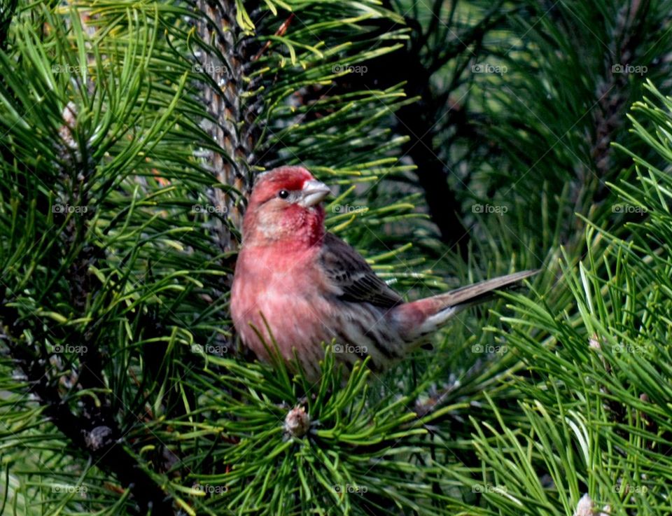
[[279, 167], [258, 176], [243, 220], [243, 242], [311, 246], [324, 235], [321, 201], [330, 193], [303, 167]]

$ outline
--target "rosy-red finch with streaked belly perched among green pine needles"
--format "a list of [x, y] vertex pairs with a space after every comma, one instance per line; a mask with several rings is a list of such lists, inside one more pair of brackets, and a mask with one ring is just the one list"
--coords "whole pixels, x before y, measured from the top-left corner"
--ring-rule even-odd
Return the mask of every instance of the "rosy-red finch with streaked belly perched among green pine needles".
[[[271, 330], [286, 362], [319, 376], [321, 342], [346, 364], [371, 357], [383, 370], [461, 309], [536, 271], [517, 272], [412, 302], [388, 287], [351, 246], [326, 232], [330, 193], [302, 167], [260, 174], [243, 219], [231, 314], [243, 344], [267, 360]], [[258, 332], [258, 333], [257, 333]]]

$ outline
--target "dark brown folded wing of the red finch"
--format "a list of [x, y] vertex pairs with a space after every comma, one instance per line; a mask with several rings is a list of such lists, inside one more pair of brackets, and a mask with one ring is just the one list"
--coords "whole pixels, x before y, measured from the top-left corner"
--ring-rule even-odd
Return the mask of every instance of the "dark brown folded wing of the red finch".
[[325, 235], [320, 259], [326, 276], [342, 292], [340, 298], [385, 308], [403, 302], [398, 293], [376, 276], [364, 258], [339, 237]]

